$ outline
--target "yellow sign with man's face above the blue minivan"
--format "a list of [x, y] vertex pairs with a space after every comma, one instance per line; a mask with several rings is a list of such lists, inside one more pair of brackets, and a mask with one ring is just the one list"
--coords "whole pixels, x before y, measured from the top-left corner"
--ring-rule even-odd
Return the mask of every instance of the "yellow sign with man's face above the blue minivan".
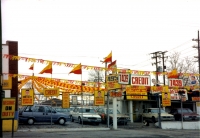
[[21, 105], [34, 104], [34, 91], [33, 89], [21, 89]]

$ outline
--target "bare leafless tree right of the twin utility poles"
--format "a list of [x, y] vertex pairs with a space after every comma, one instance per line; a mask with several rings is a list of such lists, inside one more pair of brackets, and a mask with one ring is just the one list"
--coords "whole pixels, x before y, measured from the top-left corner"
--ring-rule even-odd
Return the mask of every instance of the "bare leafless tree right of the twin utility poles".
[[[198, 69], [196, 67], [196, 63], [194, 62], [194, 58], [184, 57], [180, 58], [181, 53], [174, 52], [169, 56], [167, 61], [168, 72], [171, 72], [173, 69], [177, 69], [178, 73], [193, 73], [198, 74]], [[189, 82], [189, 77], [187, 76], [179, 76], [179, 78], [184, 79], [184, 84], [187, 85]], [[198, 78], [199, 79], [199, 78]]]

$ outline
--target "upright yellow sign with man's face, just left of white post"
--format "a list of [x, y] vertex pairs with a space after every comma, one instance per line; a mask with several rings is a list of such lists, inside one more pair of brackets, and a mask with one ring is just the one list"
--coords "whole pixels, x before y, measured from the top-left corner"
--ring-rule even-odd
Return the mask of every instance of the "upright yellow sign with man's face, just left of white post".
[[94, 92], [94, 105], [104, 105], [104, 91], [95, 91]]

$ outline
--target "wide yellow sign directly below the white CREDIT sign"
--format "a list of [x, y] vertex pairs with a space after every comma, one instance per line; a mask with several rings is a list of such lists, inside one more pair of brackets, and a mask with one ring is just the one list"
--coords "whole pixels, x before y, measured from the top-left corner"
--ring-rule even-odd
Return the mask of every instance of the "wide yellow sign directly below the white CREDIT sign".
[[144, 86], [127, 86], [126, 87], [127, 100], [147, 100], [147, 88]]

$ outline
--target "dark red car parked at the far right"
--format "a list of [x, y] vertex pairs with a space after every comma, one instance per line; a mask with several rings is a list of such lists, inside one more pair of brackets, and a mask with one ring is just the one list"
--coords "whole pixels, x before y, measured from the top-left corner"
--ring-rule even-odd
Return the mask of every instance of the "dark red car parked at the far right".
[[[170, 114], [174, 115], [175, 120], [181, 120], [181, 108], [171, 109]], [[183, 120], [199, 120], [200, 115], [189, 108], [182, 108]]]

